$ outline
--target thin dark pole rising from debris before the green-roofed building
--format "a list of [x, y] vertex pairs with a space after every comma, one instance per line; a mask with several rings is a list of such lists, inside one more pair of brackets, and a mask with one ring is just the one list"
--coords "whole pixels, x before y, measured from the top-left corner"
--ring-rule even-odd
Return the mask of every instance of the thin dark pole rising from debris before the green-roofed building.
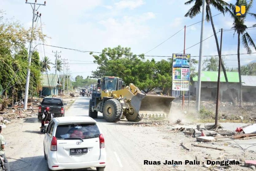
[[[222, 47], [222, 32], [223, 32], [223, 29], [221, 29], [221, 47]], [[216, 128], [217, 125], [218, 125], [218, 116], [219, 116], [220, 87], [221, 87], [221, 47], [220, 47], [218, 82], [217, 82], [217, 98], [216, 98], [216, 112], [215, 112], [215, 128]]]

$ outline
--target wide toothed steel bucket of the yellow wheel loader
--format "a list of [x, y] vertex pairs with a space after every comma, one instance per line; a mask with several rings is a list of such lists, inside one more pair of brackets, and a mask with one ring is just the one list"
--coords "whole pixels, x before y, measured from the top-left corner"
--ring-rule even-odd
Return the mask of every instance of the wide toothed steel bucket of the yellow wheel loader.
[[146, 95], [141, 102], [139, 113], [148, 116], [167, 116], [171, 109], [171, 101], [175, 97], [169, 96], [157, 96], [157, 95]]

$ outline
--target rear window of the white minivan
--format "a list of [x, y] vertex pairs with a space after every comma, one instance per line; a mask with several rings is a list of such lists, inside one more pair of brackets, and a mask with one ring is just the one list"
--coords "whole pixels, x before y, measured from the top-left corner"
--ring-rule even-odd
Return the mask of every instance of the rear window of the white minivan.
[[72, 138], [97, 138], [100, 136], [100, 131], [96, 124], [67, 124], [58, 125], [55, 133], [57, 139], [72, 139]]

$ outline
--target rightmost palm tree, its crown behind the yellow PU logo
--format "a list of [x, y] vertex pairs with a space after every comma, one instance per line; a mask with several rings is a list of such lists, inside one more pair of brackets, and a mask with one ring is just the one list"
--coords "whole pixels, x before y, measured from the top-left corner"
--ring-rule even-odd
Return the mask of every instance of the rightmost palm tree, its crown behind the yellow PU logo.
[[[237, 33], [237, 63], [238, 63], [238, 75], [239, 75], [239, 106], [242, 107], [242, 79], [241, 79], [241, 67], [240, 67], [240, 39], [242, 36], [242, 43], [244, 45], [244, 48], [247, 50], [247, 53], [251, 53], [252, 46], [256, 50], [256, 46], [246, 31], [247, 26], [245, 25], [245, 19], [248, 14], [250, 14], [252, 17], [256, 18], [256, 14], [250, 13], [249, 10], [252, 7], [253, 0], [250, 0], [249, 3], [246, 2], [246, 0], [237, 0], [236, 4], [230, 4], [229, 13], [231, 14], [231, 17], [233, 18], [233, 27], [232, 29], [235, 30], [235, 33]], [[236, 15], [236, 6], [246, 6], [246, 12], [244, 15], [237, 16]], [[234, 34], [235, 34], [234, 33]]]

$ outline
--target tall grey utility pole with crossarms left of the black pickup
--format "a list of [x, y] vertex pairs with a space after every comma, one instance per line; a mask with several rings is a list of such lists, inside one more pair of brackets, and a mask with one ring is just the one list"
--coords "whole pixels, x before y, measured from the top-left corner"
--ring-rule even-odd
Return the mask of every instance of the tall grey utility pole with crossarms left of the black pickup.
[[[29, 45], [29, 56], [28, 56], [28, 67], [27, 67], [27, 78], [26, 78], [26, 87], [25, 87], [25, 97], [24, 97], [24, 106], [23, 109], [27, 110], [27, 99], [28, 99], [28, 88], [29, 88], [29, 80], [30, 80], [30, 66], [31, 66], [31, 58], [32, 58], [32, 53], [33, 53], [33, 35], [34, 35], [34, 24], [35, 21], [37, 19], [37, 17], [41, 17], [41, 13], [40, 15], [38, 15], [38, 9], [41, 5], [46, 5], [46, 1], [44, 1], [44, 4], [37, 4], [36, 3], [37, 0], [35, 0], [35, 3], [30, 3], [27, 2], [26, 0], [26, 4], [30, 4], [32, 9], [33, 9], [33, 17], [32, 17], [32, 27], [31, 27], [31, 38], [30, 38], [30, 45]], [[32, 6], [32, 4], [34, 5], [34, 8]], [[38, 5], [38, 8], [36, 8], [36, 5]], [[37, 13], [36, 13], [37, 11]]]

